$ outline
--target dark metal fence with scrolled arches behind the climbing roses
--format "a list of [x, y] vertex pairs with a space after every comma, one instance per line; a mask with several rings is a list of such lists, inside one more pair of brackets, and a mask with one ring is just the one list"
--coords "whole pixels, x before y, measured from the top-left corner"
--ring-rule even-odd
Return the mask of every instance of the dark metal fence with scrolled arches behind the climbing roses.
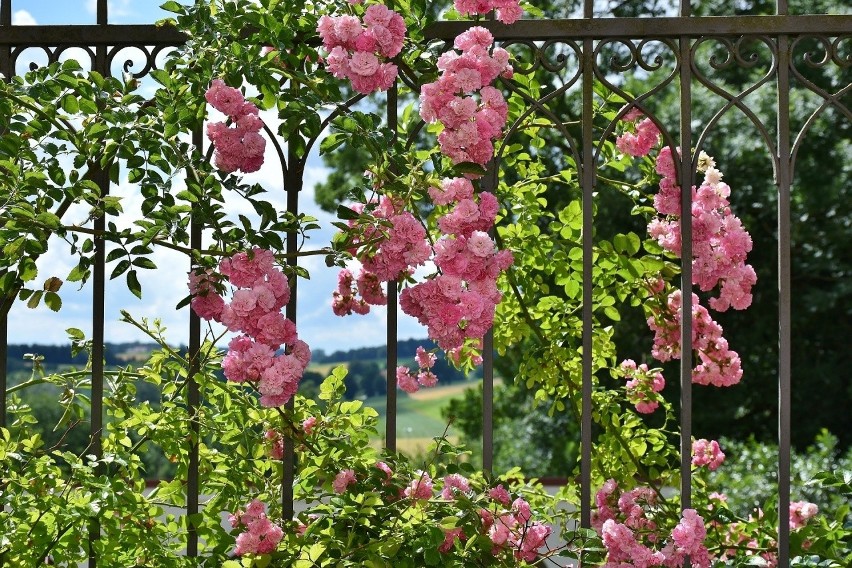
[[[49, 62], [57, 61], [70, 48], [80, 48], [91, 59], [91, 69], [103, 75], [110, 75], [116, 62], [120, 62], [122, 51], [136, 48], [145, 54], [146, 61], [141, 70], [130, 68], [130, 63], [124, 64], [125, 71], [134, 72], [137, 77], [146, 75], [156, 66], [156, 58], [164, 49], [183, 43], [184, 36], [169, 27], [153, 25], [112, 25], [109, 24], [107, 0], [97, 1], [97, 24], [95, 25], [62, 25], [62, 26], [12, 26], [12, 0], [2, 0], [0, 3], [0, 72], [7, 78], [15, 74], [16, 67], [22, 61], [22, 53], [31, 48], [42, 50]], [[532, 112], [542, 116], [551, 116], [548, 101], [554, 97], [567, 96], [570, 91], [578, 95], [581, 132], [579, 137], [569, 141], [570, 152], [578, 168], [578, 177], [582, 188], [582, 219], [583, 219], [583, 373], [582, 373], [582, 424], [581, 424], [581, 524], [590, 525], [592, 487], [591, 487], [591, 452], [592, 452], [592, 226], [593, 226], [593, 192], [595, 191], [595, 166], [598, 160], [595, 141], [599, 133], [593, 130], [593, 97], [596, 81], [606, 84], [619, 91], [619, 83], [613, 80], [613, 74], [626, 73], [631, 66], [641, 68], [651, 73], [659, 69], [660, 50], [672, 58], [670, 73], [662, 84], [674, 86], [679, 90], [680, 128], [676, 135], [664, 132], [665, 142], [672, 147], [695, 148], [695, 153], [684, 152], [679, 167], [681, 187], [690, 187], [694, 182], [695, 160], [706, 142], [713, 124], [720, 117], [736, 109], [751, 122], [766, 144], [767, 153], [772, 162], [775, 184], [777, 185], [778, 216], [778, 510], [786, 511], [790, 503], [790, 392], [791, 392], [791, 219], [790, 198], [791, 185], [795, 169], [797, 151], [804, 143], [807, 129], [813, 120], [818, 118], [827, 108], [832, 108], [837, 114], [852, 121], [852, 110], [848, 105], [848, 96], [852, 85], [841, 85], [835, 92], [820, 88], [802, 77], [800, 65], [802, 61], [794, 58], [795, 47], [803, 41], [810, 40], [819, 46], [821, 58], [806, 57], [808, 65], [833, 65], [838, 68], [848, 68], [852, 65], [852, 55], [849, 54], [850, 35], [852, 35], [852, 15], [788, 15], [786, 0], [778, 0], [775, 15], [767, 16], [719, 16], [694, 17], [691, 15], [689, 3], [681, 3], [678, 14], [663, 18], [612, 18], [598, 17], [595, 14], [595, 3], [585, 0], [581, 17], [561, 20], [520, 21], [512, 26], [495, 22], [486, 25], [495, 38], [505, 46], [521, 47], [527, 53], [526, 67], [520, 66], [520, 72], [526, 70], [545, 69], [560, 75], [558, 89], [547, 96], [547, 100], [529, 100]], [[451, 40], [457, 33], [470, 24], [467, 22], [442, 22], [426, 30], [431, 39]], [[724, 89], [714, 88], [713, 82], [699, 69], [697, 54], [701, 45], [715, 41], [727, 51], [727, 56], [734, 65], [748, 66], [750, 60], [743, 57], [740, 49], [743, 42], [757, 41], [771, 54], [771, 67], [764, 77], [764, 83], [775, 86], [777, 104], [775, 105], [776, 124], [764, 124], [752, 112], [745, 98], [748, 92], [733, 94]], [[644, 51], [650, 42], [657, 45], [657, 50], [650, 59]], [[607, 49], [621, 50], [626, 54], [627, 63], [612, 63], [606, 67], [601, 64], [602, 54]], [[845, 51], [844, 51], [845, 50]], [[32, 64], [34, 66], [35, 64]], [[84, 65], [85, 66], [85, 65]], [[640, 71], [642, 72], [642, 71]], [[806, 121], [800, 132], [793, 132], [790, 126], [790, 90], [792, 82], [798, 81], [798, 87], [810, 90], [818, 96], [820, 103], [813, 111], [811, 118]], [[722, 109], [706, 125], [704, 130], [696, 135], [692, 115], [693, 85], [703, 85], [714, 92], [723, 101]], [[507, 87], [508, 88], [508, 87]], [[651, 114], [648, 103], [656, 89], [638, 96], [628, 97], [637, 108]], [[625, 93], [626, 96], [626, 93]], [[389, 92], [388, 123], [391, 128], [397, 122], [396, 89]], [[610, 124], [604, 135], [610, 134], [614, 124]], [[774, 136], [773, 136], [774, 133]], [[511, 138], [512, 131], [507, 133]], [[566, 132], [566, 139], [572, 135]], [[201, 132], [193, 133], [194, 143], [202, 146]], [[304, 159], [292, 153], [283, 152], [280, 146], [274, 144], [281, 161], [284, 188], [287, 192], [287, 208], [292, 213], [299, 211], [299, 191], [303, 184]], [[500, 156], [498, 149], [498, 156]], [[499, 173], [498, 163], [491, 168], [486, 176], [484, 189], [493, 187]], [[91, 173], [103, 194], [110, 191], [109, 176], [106, 172]], [[692, 223], [691, 203], [689, 192], [683, 192], [682, 211], [684, 220], [682, 226], [683, 258], [691, 258]], [[104, 219], [94, 221], [94, 228], [103, 230]], [[201, 248], [202, 227], [197, 223], [192, 225], [192, 247]], [[287, 239], [287, 252], [296, 252], [296, 239]], [[92, 326], [93, 326], [93, 368], [92, 368], [92, 409], [91, 436], [93, 444], [91, 453], [100, 457], [102, 448], [99, 442], [103, 423], [101, 398], [104, 388], [103, 347], [104, 347], [104, 290], [105, 290], [105, 251], [103, 240], [96, 242], [96, 256], [93, 264], [93, 297]], [[295, 255], [288, 262], [295, 263]], [[692, 274], [690, 263], [682, 266], [681, 285], [683, 289], [691, 288]], [[294, 279], [295, 280], [295, 279]], [[287, 317], [296, 319], [296, 298], [293, 290], [293, 301], [287, 306]], [[397, 295], [394, 286], [388, 290], [388, 328], [387, 328], [387, 367], [397, 365]], [[6, 360], [8, 335], [7, 314], [14, 298], [4, 300], [0, 312], [0, 361]], [[681, 360], [681, 500], [682, 507], [688, 508], [691, 503], [691, 435], [692, 435], [692, 391], [691, 391], [691, 325], [692, 310], [689, 295], [683, 297], [684, 309], [681, 345], [684, 346]], [[188, 321], [188, 343], [190, 353], [197, 352], [200, 346], [201, 326], [197, 316], [190, 315]], [[14, 335], [14, 330], [13, 335]], [[493, 348], [491, 334], [486, 338], [484, 353], [484, 387], [483, 387], [483, 463], [486, 470], [492, 467], [493, 456]], [[191, 375], [191, 373], [190, 373]], [[190, 405], [200, 404], [198, 388], [189, 382], [188, 399]], [[0, 366], [0, 424], [6, 422], [6, 368]], [[196, 425], [197, 429], [197, 425]], [[197, 431], [196, 431], [197, 434]], [[387, 430], [386, 445], [390, 450], [396, 449], [396, 384], [392, 373], [388, 373], [387, 389]], [[187, 514], [198, 512], [198, 451], [196, 446], [189, 446], [190, 467], [187, 480]], [[292, 481], [294, 459], [292, 446], [284, 457], [284, 478], [282, 480], [284, 516], [292, 515]], [[786, 515], [779, 515], [779, 565], [789, 565], [789, 523]], [[190, 531], [192, 528], [190, 527]], [[99, 538], [99, 526], [94, 522], [89, 527], [89, 538]], [[91, 547], [90, 547], [90, 550]], [[190, 532], [187, 554], [198, 554], [198, 538]], [[90, 566], [96, 565], [94, 552], [90, 552]]]

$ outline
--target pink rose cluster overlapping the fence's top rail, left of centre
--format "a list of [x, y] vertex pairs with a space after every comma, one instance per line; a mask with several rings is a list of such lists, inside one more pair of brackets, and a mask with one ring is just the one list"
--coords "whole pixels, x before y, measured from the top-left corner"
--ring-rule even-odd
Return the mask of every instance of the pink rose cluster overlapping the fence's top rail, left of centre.
[[396, 80], [396, 57], [405, 40], [402, 16], [382, 4], [367, 8], [363, 22], [356, 16], [322, 16], [317, 33], [328, 50], [326, 68], [338, 79], [349, 79], [363, 94], [388, 90]]

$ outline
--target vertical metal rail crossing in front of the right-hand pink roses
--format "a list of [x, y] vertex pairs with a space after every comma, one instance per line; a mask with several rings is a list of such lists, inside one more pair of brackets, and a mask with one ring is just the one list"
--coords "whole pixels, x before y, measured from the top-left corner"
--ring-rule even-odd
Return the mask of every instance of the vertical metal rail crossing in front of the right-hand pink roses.
[[[681, 0], [681, 17], [691, 15], [688, 0]], [[680, 504], [692, 507], [692, 46], [681, 36], [680, 48]], [[675, 160], [678, 163], [678, 160]], [[688, 562], [687, 562], [688, 563]]]

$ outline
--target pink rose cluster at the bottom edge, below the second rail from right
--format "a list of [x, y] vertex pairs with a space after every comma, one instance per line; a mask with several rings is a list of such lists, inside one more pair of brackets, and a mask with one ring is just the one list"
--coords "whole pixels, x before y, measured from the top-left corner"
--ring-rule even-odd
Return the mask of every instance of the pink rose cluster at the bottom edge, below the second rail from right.
[[709, 568], [704, 544], [707, 529], [694, 509], [684, 509], [680, 522], [666, 537], [654, 520], [657, 495], [648, 487], [620, 491], [615, 480], [597, 492], [592, 526], [607, 549], [605, 568], [680, 567], [689, 556], [692, 566]]

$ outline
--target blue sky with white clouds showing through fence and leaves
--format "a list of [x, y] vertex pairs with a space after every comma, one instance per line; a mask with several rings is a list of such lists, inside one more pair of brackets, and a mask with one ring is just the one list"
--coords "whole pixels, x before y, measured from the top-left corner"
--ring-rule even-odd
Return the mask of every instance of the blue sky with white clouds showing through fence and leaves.
[[[159, 9], [159, 0], [110, 0], [112, 23], [146, 23], [165, 17]], [[86, 24], [95, 21], [95, 0], [12, 0], [14, 23], [16, 24]], [[34, 57], [35, 59], [35, 57]], [[142, 85], [142, 92], [150, 87]], [[265, 117], [275, 120], [274, 116]], [[318, 145], [317, 145], [318, 146]], [[271, 145], [267, 145], [267, 164], [247, 179], [261, 183], [270, 192], [269, 200], [277, 208], [284, 208], [284, 192], [280, 168], [275, 164]], [[313, 203], [313, 187], [327, 175], [318, 156], [312, 156], [308, 161], [305, 174], [305, 189], [302, 195], [302, 211], [318, 217], [324, 226], [330, 226], [333, 218], [320, 211]], [[141, 199], [135, 188], [127, 183], [121, 183], [112, 188], [114, 194], [122, 195], [125, 212], [132, 217], [133, 211], [138, 211]], [[231, 206], [229, 205], [229, 208]], [[251, 209], [245, 204], [234, 203], [233, 213], [250, 214]], [[69, 212], [70, 219], [76, 220], [80, 212]], [[132, 218], [125, 220], [122, 225], [129, 225]], [[308, 248], [318, 248], [327, 244], [333, 231], [325, 229], [314, 235]], [[142, 300], [136, 299], [127, 292], [123, 278], [107, 283], [106, 305], [106, 335], [107, 341], [125, 342], [144, 340], [140, 332], [127, 324], [118, 321], [119, 310], [127, 309], [135, 317], [160, 318], [169, 329], [167, 337], [173, 343], [186, 341], [186, 309], [176, 311], [174, 306], [186, 294], [186, 259], [171, 251], [158, 252], [155, 262], [163, 268], [158, 271], [141, 271], [140, 281], [143, 286]], [[308, 257], [302, 263], [311, 272], [310, 280], [299, 282], [299, 310], [297, 326], [299, 335], [312, 348], [334, 351], [385, 343], [385, 322], [387, 314], [384, 309], [376, 309], [367, 316], [348, 316], [340, 318], [331, 311], [331, 293], [336, 287], [337, 270], [328, 269], [321, 256]], [[61, 278], [67, 275], [73, 266], [68, 256], [67, 246], [61, 241], [52, 242], [49, 252], [39, 261], [39, 277], [47, 278], [56, 275]], [[61, 291], [63, 308], [56, 314], [46, 307], [30, 310], [22, 302], [12, 309], [9, 318], [10, 343], [65, 343], [65, 329], [76, 327], [91, 333], [90, 298], [91, 288], [86, 286], [77, 290], [67, 283]], [[416, 321], [405, 316], [400, 321], [400, 338], [425, 337], [426, 330]]]

